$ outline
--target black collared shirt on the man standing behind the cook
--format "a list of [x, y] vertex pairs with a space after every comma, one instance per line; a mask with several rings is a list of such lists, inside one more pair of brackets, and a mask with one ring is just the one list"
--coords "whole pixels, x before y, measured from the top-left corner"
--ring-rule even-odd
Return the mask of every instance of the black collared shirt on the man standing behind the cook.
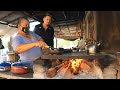
[[51, 47], [54, 47], [54, 28], [49, 26], [47, 30], [45, 30], [42, 24], [38, 24], [35, 26], [34, 32], [41, 36], [45, 43]]

